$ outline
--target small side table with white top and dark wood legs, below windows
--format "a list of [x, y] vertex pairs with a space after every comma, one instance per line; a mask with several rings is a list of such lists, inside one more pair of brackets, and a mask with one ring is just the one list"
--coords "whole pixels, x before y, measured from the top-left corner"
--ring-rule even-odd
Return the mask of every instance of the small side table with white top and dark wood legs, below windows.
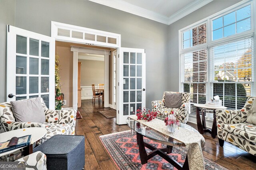
[[[217, 124], [216, 124], [216, 115], [215, 115], [215, 110], [216, 109], [226, 109], [227, 107], [225, 106], [206, 106], [204, 104], [194, 104], [196, 106], [196, 122], [197, 122], [197, 129], [200, 134], [204, 134], [206, 132], [210, 133], [213, 138], [216, 137], [217, 135]], [[200, 108], [201, 108], [201, 113], [202, 113], [202, 120], [200, 118]], [[213, 110], [213, 123], [212, 123], [212, 129], [208, 129], [206, 127], [206, 121], [205, 121], [205, 116], [204, 116], [204, 109], [212, 109]]]

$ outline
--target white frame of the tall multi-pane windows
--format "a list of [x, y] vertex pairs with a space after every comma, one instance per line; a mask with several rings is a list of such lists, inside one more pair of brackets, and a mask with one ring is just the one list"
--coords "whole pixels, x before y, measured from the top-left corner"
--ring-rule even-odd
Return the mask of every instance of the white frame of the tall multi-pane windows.
[[[236, 33], [234, 35], [230, 35], [228, 37], [223, 37], [217, 40], [212, 41], [212, 20], [215, 20], [216, 18], [220, 18], [226, 14], [229, 14], [231, 12], [234, 12], [240, 8], [243, 8], [245, 6], [251, 5], [251, 30], [248, 31], [244, 31], [242, 33]], [[221, 45], [224, 43], [228, 43], [230, 41], [236, 41], [245, 37], [250, 37], [253, 36], [254, 37], [254, 43], [256, 42], [256, 22], [254, 21], [254, 18], [256, 18], [256, 12], [254, 12], [254, 10], [256, 9], [256, 0], [243, 0], [241, 2], [238, 2], [237, 4], [234, 4], [233, 6], [230, 6], [220, 12], [217, 12], [216, 14], [213, 14], [212, 16], [209, 16], [207, 18], [204, 18], [200, 21], [197, 21], [196, 23], [193, 23], [191, 25], [188, 25], [187, 27], [184, 27], [183, 29], [179, 30], [179, 66], [181, 66], [180, 64], [182, 63], [181, 61], [181, 56], [184, 53], [190, 53], [193, 51], [198, 51], [204, 48], [207, 48], [208, 53], [207, 53], [207, 65], [208, 65], [208, 69], [207, 69], [207, 81], [206, 83], [206, 101], [208, 101], [208, 99], [210, 97], [213, 96], [213, 82], [212, 79], [210, 77], [211, 73], [210, 73], [210, 47], [213, 47], [215, 45]], [[204, 44], [200, 44], [200, 45], [196, 45], [196, 46], [192, 46], [186, 49], [183, 49], [183, 37], [182, 37], [182, 33], [188, 31], [189, 29], [193, 29], [194, 27], [197, 27], [199, 25], [202, 25], [206, 23], [206, 43]], [[252, 70], [254, 72], [254, 77], [253, 80], [251, 82], [251, 96], [256, 96], [256, 45], [254, 45], [254, 70]], [[179, 91], [183, 92], [183, 70], [180, 69], [179, 71]], [[188, 82], [193, 83], [193, 82]], [[196, 83], [196, 82], [195, 82]], [[212, 124], [212, 119], [210, 119], [209, 115], [206, 115], [207, 119], [206, 120], [206, 125], [207, 126], [211, 126]], [[191, 119], [192, 118], [192, 119]], [[191, 115], [190, 117], [190, 121], [196, 123], [196, 119], [194, 115]]]

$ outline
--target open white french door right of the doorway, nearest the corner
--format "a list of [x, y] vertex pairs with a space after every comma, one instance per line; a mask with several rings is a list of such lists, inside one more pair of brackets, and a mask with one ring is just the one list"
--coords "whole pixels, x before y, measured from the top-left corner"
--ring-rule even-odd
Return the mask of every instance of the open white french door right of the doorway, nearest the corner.
[[146, 106], [146, 54], [144, 49], [120, 48], [118, 58], [118, 109], [116, 123]]

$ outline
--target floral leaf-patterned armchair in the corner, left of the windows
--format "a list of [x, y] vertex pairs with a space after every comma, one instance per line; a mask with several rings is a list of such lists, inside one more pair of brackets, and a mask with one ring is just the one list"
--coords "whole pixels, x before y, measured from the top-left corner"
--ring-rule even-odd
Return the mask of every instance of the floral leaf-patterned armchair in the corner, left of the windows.
[[176, 115], [179, 115], [180, 122], [187, 123], [188, 122], [188, 115], [190, 114], [190, 93], [182, 93], [182, 105], [180, 108], [168, 108], [164, 104], [165, 100], [165, 93], [179, 93], [179, 92], [164, 92], [164, 96], [162, 100], [156, 100], [152, 101], [152, 111], [159, 111], [158, 118], [164, 119], [168, 113], [170, 113], [171, 110], [176, 113]]

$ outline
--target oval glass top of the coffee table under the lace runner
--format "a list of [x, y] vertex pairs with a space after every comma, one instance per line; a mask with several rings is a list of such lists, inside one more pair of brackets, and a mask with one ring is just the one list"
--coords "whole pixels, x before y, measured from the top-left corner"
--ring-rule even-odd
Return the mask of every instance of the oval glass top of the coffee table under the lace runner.
[[[164, 122], [163, 122], [164, 123]], [[173, 139], [172, 137], [169, 137], [168, 135], [165, 135], [159, 131], [156, 131], [150, 127], [148, 127], [147, 125], [144, 125], [130, 117], [128, 117], [126, 119], [126, 124], [134, 131], [136, 131], [137, 133], [143, 135], [144, 137], [147, 137], [149, 139], [152, 139], [153, 141], [159, 142], [159, 143], [163, 143], [165, 145], [170, 145], [170, 146], [185, 146], [184, 143], [182, 143], [181, 141], [178, 141], [176, 139]], [[183, 127], [189, 131], [194, 131], [197, 132], [198, 131], [196, 129], [194, 129], [193, 127], [191, 127], [190, 125], [186, 125], [184, 123], [180, 123], [179, 127]], [[166, 126], [167, 128], [167, 126]], [[178, 129], [176, 129], [176, 131], [174, 132], [174, 134], [178, 131]]]

